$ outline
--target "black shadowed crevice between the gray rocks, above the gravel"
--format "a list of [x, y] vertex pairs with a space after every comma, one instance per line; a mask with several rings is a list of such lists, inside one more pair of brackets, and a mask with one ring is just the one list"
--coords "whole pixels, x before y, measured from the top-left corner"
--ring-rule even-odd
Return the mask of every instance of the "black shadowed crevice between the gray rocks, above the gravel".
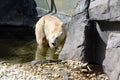
[[90, 21], [85, 26], [84, 57], [85, 61], [92, 64], [102, 64], [105, 58], [106, 44], [103, 42], [96, 29], [96, 23]]

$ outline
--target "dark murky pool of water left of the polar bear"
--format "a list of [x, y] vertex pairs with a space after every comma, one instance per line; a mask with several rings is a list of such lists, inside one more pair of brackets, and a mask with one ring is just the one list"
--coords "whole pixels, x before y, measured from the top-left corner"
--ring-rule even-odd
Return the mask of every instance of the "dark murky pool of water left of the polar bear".
[[0, 61], [24, 63], [34, 60], [36, 41], [31, 26], [0, 25]]

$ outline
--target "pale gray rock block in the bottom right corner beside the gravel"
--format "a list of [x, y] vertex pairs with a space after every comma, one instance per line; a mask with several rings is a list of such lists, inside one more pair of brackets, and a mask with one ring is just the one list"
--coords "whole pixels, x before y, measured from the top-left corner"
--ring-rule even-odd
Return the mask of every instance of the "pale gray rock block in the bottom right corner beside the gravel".
[[103, 66], [110, 80], [120, 80], [120, 48], [106, 50]]

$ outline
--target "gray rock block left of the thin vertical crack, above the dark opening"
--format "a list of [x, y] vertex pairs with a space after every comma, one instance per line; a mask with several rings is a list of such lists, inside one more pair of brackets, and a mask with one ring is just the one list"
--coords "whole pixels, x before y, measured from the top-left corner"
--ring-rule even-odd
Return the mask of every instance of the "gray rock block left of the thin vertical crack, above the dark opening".
[[90, 19], [107, 20], [110, 19], [109, 0], [94, 0], [89, 7]]

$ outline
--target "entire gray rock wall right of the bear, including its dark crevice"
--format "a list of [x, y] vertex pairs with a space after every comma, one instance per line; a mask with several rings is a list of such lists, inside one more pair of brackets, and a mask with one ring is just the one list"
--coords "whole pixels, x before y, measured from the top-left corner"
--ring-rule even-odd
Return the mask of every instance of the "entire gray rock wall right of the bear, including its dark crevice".
[[60, 59], [100, 64], [120, 80], [120, 0], [78, 0]]

